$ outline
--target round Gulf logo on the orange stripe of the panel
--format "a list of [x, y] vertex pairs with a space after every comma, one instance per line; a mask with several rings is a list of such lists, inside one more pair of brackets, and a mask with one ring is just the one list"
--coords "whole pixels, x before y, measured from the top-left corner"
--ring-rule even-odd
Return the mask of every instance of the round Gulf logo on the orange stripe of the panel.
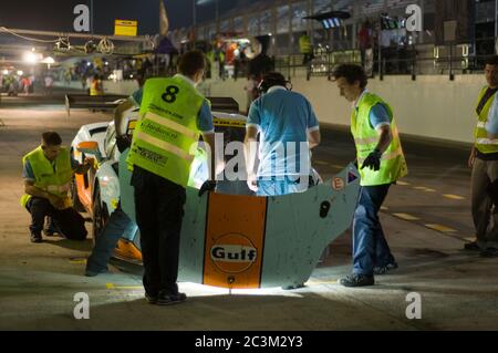
[[246, 236], [228, 233], [215, 241], [210, 253], [211, 261], [220, 271], [240, 273], [256, 262], [258, 250]]

